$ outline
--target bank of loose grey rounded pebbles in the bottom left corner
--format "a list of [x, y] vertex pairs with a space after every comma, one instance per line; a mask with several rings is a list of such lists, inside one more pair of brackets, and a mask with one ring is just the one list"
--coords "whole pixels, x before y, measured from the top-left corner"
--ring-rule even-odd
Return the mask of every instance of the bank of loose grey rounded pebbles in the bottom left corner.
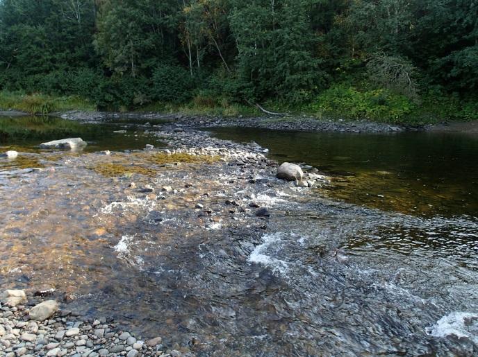
[[38, 291], [27, 299], [24, 290], [3, 292], [1, 356], [191, 356], [166, 350], [160, 337], [146, 341], [135, 338], [119, 329], [112, 318], [79, 316], [60, 309], [54, 300], [40, 302], [50, 294], [49, 290]]

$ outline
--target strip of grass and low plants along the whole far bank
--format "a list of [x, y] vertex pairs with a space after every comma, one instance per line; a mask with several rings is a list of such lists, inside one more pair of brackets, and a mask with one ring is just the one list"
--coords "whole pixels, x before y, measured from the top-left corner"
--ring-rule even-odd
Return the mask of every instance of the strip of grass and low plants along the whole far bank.
[[[337, 93], [340, 92], [340, 93]], [[331, 121], [370, 121], [372, 123], [388, 123], [405, 126], [420, 127], [450, 122], [468, 122], [478, 118], [478, 102], [461, 102], [456, 98], [428, 98], [420, 105], [402, 103], [406, 100], [388, 93], [388, 103], [373, 105], [374, 96], [382, 96], [384, 92], [358, 92], [353, 87], [330, 89], [315, 103], [288, 106], [279, 101], [267, 101], [267, 110], [281, 113], [300, 121], [303, 116], [318, 120]], [[364, 106], [363, 101], [369, 100], [370, 106]], [[99, 108], [92, 101], [79, 96], [51, 96], [45, 94], [25, 94], [24, 92], [0, 91], [0, 113], [18, 114], [56, 114], [63, 112], [99, 112]], [[197, 116], [244, 116], [256, 117], [267, 115], [254, 105], [244, 105], [215, 98], [198, 98], [187, 103], [149, 103], [138, 107], [121, 107], [121, 113], [156, 113], [179, 114]]]

